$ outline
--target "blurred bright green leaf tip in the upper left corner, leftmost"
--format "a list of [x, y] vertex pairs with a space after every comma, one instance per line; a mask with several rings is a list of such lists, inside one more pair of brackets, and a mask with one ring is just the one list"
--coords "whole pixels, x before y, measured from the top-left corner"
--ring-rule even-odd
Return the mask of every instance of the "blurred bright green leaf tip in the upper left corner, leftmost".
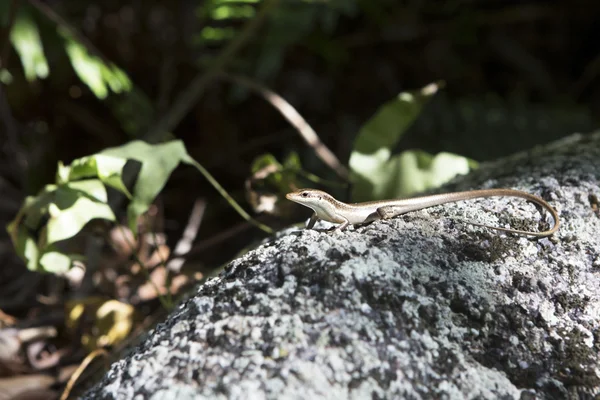
[[50, 69], [44, 55], [42, 41], [37, 25], [26, 8], [21, 7], [14, 26], [10, 32], [10, 41], [19, 54], [25, 78], [32, 82], [37, 78], [44, 79]]

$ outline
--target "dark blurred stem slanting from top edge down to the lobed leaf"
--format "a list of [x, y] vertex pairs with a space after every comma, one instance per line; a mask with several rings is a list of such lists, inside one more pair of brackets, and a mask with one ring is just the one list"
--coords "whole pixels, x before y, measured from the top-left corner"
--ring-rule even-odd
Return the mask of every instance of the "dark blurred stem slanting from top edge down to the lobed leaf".
[[[37, 0], [35, 0], [37, 1]], [[164, 135], [172, 131], [181, 120], [190, 112], [194, 104], [204, 93], [210, 82], [225, 68], [237, 52], [252, 38], [263, 21], [269, 15], [271, 8], [278, 0], [264, 0], [256, 17], [246, 23], [243, 30], [219, 53], [206, 71], [200, 72], [175, 100], [171, 109], [144, 135], [144, 140], [149, 143], [160, 141]]]

